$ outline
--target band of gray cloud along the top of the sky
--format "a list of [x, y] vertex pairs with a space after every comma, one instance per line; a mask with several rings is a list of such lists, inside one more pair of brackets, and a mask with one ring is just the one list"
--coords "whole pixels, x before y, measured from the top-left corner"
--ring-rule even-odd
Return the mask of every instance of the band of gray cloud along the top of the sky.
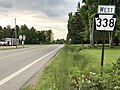
[[42, 11], [50, 17], [64, 16], [77, 4], [77, 0], [1, 0], [0, 8], [14, 11]]

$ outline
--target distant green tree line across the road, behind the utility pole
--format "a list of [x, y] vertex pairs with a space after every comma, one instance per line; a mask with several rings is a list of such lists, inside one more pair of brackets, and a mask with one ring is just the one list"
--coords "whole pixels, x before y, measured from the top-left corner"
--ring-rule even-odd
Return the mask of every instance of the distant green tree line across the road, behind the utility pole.
[[[42, 30], [37, 31], [34, 27], [30, 29], [27, 25], [18, 26], [16, 25], [17, 38], [19, 35], [26, 36], [26, 44], [48, 44], [53, 41], [53, 32], [52, 30]], [[10, 25], [6, 27], [0, 26], [0, 40], [5, 38], [15, 38], [15, 28], [11, 28]]]

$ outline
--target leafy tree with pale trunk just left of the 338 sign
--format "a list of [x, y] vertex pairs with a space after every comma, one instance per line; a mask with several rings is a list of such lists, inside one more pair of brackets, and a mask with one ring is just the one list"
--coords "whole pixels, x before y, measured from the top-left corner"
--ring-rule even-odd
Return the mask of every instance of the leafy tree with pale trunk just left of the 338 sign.
[[[87, 24], [87, 29], [89, 30], [89, 37], [90, 37], [90, 46], [91, 47], [94, 47], [94, 21], [93, 21], [93, 18], [94, 18], [94, 15], [96, 14], [96, 11], [97, 11], [97, 5], [98, 5], [98, 0], [83, 0], [83, 3], [85, 3], [85, 6], [83, 8], [86, 9], [86, 12], [85, 15], [87, 16], [87, 20], [86, 22], [88, 23]], [[85, 10], [83, 9], [83, 10]], [[83, 11], [82, 10], [82, 11]], [[82, 12], [84, 14], [84, 12]], [[82, 15], [83, 15], [82, 14]], [[84, 19], [84, 18], [83, 18]]]

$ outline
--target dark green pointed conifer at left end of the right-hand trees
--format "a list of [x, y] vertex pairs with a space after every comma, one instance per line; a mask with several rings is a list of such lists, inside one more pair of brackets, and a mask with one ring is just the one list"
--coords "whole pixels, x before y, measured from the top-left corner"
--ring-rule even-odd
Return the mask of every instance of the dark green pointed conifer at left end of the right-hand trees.
[[69, 13], [67, 41], [71, 39], [72, 44], [83, 42], [83, 37], [81, 35], [81, 32], [83, 32], [83, 25], [79, 9], [80, 3], [78, 3], [77, 11], [74, 15]]

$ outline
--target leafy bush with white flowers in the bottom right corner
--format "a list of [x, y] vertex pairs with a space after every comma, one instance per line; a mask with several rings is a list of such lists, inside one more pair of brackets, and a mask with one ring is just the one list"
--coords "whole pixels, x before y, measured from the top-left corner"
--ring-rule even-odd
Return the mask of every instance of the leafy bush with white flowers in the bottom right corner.
[[80, 88], [81, 90], [88, 88], [89, 90], [120, 90], [120, 59], [113, 64], [111, 70], [103, 71], [102, 75], [90, 72], [89, 76], [81, 83]]

